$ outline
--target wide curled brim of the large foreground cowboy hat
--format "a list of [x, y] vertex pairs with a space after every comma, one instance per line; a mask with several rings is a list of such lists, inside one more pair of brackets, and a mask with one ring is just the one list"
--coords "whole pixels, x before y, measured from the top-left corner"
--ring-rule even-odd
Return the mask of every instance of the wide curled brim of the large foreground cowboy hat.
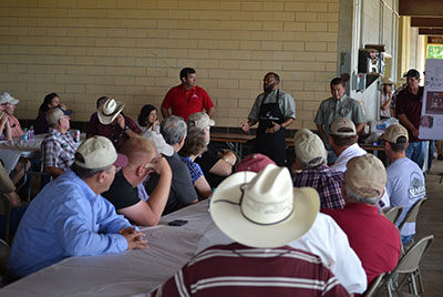
[[[251, 247], [279, 247], [303, 236], [312, 226], [320, 209], [320, 198], [311, 187], [292, 188], [293, 212], [281, 223], [258, 225], [248, 221], [238, 205], [240, 185], [256, 176], [239, 172], [227, 177], [215, 191], [210, 201], [210, 216], [217, 227], [233, 240]], [[223, 199], [223, 201], [222, 201]]]

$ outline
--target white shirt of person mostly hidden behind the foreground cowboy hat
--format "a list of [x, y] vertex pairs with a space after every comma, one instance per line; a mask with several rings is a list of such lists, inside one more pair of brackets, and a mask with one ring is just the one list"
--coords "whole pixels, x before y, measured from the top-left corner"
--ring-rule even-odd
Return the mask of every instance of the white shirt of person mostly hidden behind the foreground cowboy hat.
[[[196, 254], [209, 246], [233, 242], [212, 223], [198, 243]], [[367, 275], [359, 257], [349, 245], [348, 236], [329, 215], [319, 213], [309, 232], [288, 245], [319, 256], [350, 294], [367, 289]]]

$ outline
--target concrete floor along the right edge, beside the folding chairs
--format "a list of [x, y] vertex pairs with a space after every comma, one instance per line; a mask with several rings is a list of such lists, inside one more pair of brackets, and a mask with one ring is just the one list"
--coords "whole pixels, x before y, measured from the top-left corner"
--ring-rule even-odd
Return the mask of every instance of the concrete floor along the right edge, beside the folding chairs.
[[427, 201], [419, 218], [415, 240], [434, 235], [434, 243], [424, 256], [421, 272], [424, 280], [424, 294], [420, 296], [443, 296], [443, 183], [440, 184], [443, 161], [434, 160], [426, 175]]

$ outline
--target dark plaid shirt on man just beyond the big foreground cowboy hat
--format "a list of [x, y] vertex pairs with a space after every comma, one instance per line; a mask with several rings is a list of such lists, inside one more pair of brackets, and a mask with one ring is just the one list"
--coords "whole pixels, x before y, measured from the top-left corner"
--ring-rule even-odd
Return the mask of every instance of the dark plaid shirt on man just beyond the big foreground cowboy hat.
[[292, 175], [295, 187], [310, 186], [320, 195], [320, 208], [343, 208], [344, 197], [341, 194], [341, 184], [344, 173], [334, 171], [327, 165], [315, 170], [307, 170]]

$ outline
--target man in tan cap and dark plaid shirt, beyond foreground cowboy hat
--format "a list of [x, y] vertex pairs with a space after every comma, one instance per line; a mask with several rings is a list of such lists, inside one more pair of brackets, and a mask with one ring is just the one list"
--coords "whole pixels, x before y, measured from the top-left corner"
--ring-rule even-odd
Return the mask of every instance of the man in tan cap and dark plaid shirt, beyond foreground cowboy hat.
[[341, 185], [344, 174], [327, 165], [327, 151], [321, 139], [310, 130], [301, 129], [293, 136], [296, 161], [292, 182], [295, 187], [310, 186], [320, 195], [321, 208], [343, 208]]

